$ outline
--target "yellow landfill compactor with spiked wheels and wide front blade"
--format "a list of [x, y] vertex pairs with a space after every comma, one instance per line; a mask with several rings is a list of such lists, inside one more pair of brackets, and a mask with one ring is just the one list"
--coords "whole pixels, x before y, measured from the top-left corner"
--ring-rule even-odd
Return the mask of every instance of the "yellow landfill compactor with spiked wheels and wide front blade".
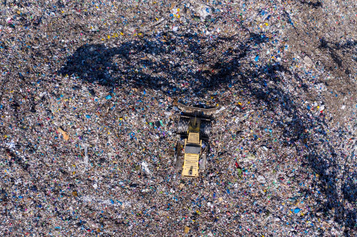
[[217, 109], [205, 109], [201, 107], [177, 104], [181, 110], [178, 121], [174, 163], [175, 168], [182, 170], [182, 177], [196, 178], [198, 171], [206, 169], [210, 156], [208, 138], [211, 131], [211, 115]]

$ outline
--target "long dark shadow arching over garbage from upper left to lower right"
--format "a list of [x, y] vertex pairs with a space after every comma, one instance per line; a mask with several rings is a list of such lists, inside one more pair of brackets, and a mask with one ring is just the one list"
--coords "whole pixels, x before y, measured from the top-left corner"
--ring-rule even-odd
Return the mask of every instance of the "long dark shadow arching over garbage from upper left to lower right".
[[[304, 157], [302, 165], [310, 166], [319, 175], [320, 182], [315, 185], [327, 196], [327, 200], [321, 200], [324, 202], [321, 205], [324, 210], [321, 211], [334, 208], [336, 221], [347, 227], [354, 227], [356, 211], [346, 209], [340, 203], [338, 191], [342, 192], [345, 199], [354, 202], [357, 185], [353, 180], [356, 177], [344, 177], [342, 190], [338, 190], [336, 180], [339, 167], [336, 157], [342, 154], [337, 154], [328, 142], [321, 145], [327, 152], [317, 151], [318, 141], [306, 132], [317, 131], [327, 140], [328, 121], [323, 113], [310, 117], [308, 112], [304, 111], [305, 108], [297, 106], [292, 99], [293, 95], [282, 89], [281, 85], [286, 82], [285, 75], [301, 80], [287, 68], [274, 61], [260, 67], [255, 66], [254, 60], [248, 65], [240, 63], [240, 60], [252, 51], [252, 46], [270, 40], [255, 33], [249, 34], [250, 37], [243, 42], [240, 42], [237, 36], [208, 39], [184, 34], [177, 35], [174, 39], [156, 37], [150, 40], [127, 41], [119, 47], [85, 44], [68, 58], [58, 73], [75, 75], [90, 83], [97, 82], [108, 87], [118, 85], [150, 88], [161, 90], [163, 94], [175, 92], [176, 96], [186, 96], [187, 89], [177, 88], [179, 85], [191, 83], [190, 88], [198, 98], [203, 98], [208, 91], [226, 89], [228, 84], [244, 88], [249, 91], [247, 96], [253, 97], [268, 110], [280, 109], [281, 115], [275, 123], [283, 131], [284, 140], [281, 141], [281, 146], [296, 149], [298, 154], [303, 154], [304, 150], [308, 151], [309, 155]], [[234, 48], [213, 53], [213, 49], [233, 40], [236, 42]], [[184, 52], [176, 51], [178, 46], [184, 47]], [[190, 67], [189, 63], [180, 59], [181, 56], [200, 65], [200, 69]], [[171, 61], [175, 57], [177, 60]], [[301, 86], [303, 89], [308, 87], [303, 83]], [[301, 187], [298, 193], [312, 195], [307, 187]]]

